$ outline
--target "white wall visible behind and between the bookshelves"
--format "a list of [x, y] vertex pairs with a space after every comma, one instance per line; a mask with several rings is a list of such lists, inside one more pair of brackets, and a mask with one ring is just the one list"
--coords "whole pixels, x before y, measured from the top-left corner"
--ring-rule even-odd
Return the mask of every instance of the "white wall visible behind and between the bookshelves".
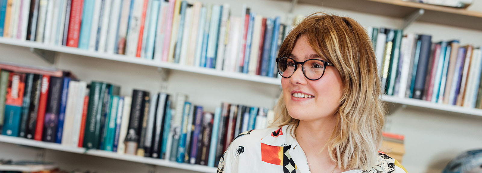
[[[224, 0], [201, 0], [203, 3], [224, 3]], [[290, 2], [278, 0], [228, 0], [231, 14], [240, 15], [241, 5], [246, 3], [254, 12], [274, 17], [284, 16]], [[482, 10], [482, 0], [475, 0], [470, 10]], [[364, 27], [402, 26], [402, 19], [356, 13], [339, 9], [299, 4], [295, 14], [309, 14], [324, 11], [354, 18]], [[463, 19], [461, 19], [463, 20]], [[460, 39], [461, 44], [482, 45], [482, 31], [448, 27], [425, 22], [415, 22], [405, 32], [427, 33], [433, 41]], [[54, 66], [72, 70], [81, 80], [103, 80], [118, 84], [122, 95], [131, 95], [133, 88], [151, 92], [160, 90], [161, 75], [155, 67], [126, 64], [91, 57], [59, 53], [54, 65], [50, 65], [29, 52], [28, 48], [0, 45], [0, 61], [15, 62], [36, 66]], [[280, 89], [269, 84], [259, 84], [221, 77], [205, 76], [187, 72], [171, 71], [167, 92], [183, 92], [189, 95], [194, 104], [205, 106], [208, 111], [221, 102], [271, 107]], [[403, 165], [410, 173], [440, 173], [447, 162], [457, 154], [475, 148], [482, 148], [482, 117], [458, 115], [442, 111], [407, 107], [398, 109], [388, 116], [387, 131], [405, 135], [406, 154]], [[31, 158], [30, 149], [0, 143], [0, 158]], [[9, 148], [9, 152], [6, 151]], [[12, 148], [12, 152], [10, 149]], [[15, 152], [14, 152], [15, 151]], [[17, 152], [18, 151], [18, 152]], [[18, 154], [21, 153], [21, 154]], [[103, 159], [94, 156], [66, 154], [47, 151], [46, 158], [58, 162], [66, 169], [90, 168], [99, 173], [144, 172], [151, 167], [127, 161]], [[84, 169], [85, 170], [85, 169]], [[155, 172], [179, 172], [180, 170], [156, 167]], [[183, 171], [185, 172], [185, 171]]]

